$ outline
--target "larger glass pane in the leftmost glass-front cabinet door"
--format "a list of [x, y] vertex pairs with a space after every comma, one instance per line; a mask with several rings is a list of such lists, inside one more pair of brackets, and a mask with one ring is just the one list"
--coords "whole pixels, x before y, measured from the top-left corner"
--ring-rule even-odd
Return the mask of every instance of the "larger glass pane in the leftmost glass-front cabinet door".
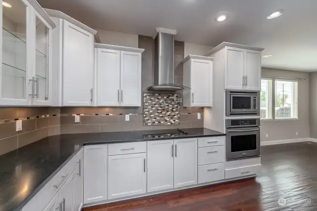
[[2, 6], [2, 98], [26, 99], [26, 5]]

